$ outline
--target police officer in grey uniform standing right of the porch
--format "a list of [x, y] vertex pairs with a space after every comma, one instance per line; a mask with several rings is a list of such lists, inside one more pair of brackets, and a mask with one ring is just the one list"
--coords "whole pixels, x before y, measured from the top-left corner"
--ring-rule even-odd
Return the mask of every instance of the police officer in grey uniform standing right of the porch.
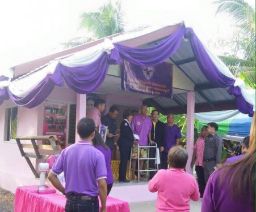
[[204, 141], [204, 178], [207, 183], [211, 173], [220, 167], [221, 151], [223, 147], [223, 139], [216, 133], [218, 125], [216, 123], [208, 123], [207, 131], [209, 136]]

